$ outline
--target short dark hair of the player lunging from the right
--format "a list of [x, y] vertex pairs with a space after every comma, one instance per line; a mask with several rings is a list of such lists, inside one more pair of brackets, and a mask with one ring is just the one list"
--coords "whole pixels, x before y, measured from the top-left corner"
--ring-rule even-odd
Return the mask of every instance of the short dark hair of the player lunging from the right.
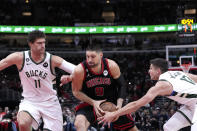
[[152, 59], [150, 60], [150, 64], [152, 64], [155, 67], [160, 68], [162, 73], [168, 71], [168, 62], [163, 58]]

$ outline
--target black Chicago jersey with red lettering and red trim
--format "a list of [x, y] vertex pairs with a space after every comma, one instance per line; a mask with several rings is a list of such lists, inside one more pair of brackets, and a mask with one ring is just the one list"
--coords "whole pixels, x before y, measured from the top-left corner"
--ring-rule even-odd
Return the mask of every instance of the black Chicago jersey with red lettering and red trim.
[[95, 73], [88, 66], [87, 61], [83, 61], [84, 81], [82, 92], [94, 100], [104, 100], [116, 103], [118, 98], [118, 88], [111, 76], [108, 60], [102, 59], [102, 70]]

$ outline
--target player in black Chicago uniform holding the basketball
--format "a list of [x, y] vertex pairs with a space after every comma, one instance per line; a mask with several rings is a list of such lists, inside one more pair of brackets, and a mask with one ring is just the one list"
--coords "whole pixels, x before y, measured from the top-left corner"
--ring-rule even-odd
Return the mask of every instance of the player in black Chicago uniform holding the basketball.
[[[77, 65], [73, 72], [72, 91], [82, 104], [76, 107], [75, 127], [77, 131], [87, 131], [103, 111], [99, 105], [110, 101], [122, 107], [126, 97], [126, 87], [119, 66], [113, 60], [103, 58], [99, 46], [92, 45], [86, 50], [86, 60]], [[113, 122], [119, 130], [137, 131], [131, 115], [124, 115]]]

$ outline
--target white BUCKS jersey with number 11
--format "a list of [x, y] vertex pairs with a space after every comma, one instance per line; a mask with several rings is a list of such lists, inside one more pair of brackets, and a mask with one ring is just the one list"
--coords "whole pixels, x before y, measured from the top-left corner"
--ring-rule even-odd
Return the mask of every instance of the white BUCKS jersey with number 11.
[[51, 69], [51, 54], [48, 52], [39, 63], [34, 62], [30, 51], [24, 52], [23, 66], [19, 70], [24, 99], [40, 102], [57, 97], [57, 92], [53, 89], [56, 77]]

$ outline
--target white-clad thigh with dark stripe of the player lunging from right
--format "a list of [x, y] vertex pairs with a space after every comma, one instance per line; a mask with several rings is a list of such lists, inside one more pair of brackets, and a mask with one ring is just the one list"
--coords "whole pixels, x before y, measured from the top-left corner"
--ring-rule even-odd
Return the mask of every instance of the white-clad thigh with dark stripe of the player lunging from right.
[[191, 125], [192, 112], [183, 106], [163, 126], [164, 131], [178, 131]]

